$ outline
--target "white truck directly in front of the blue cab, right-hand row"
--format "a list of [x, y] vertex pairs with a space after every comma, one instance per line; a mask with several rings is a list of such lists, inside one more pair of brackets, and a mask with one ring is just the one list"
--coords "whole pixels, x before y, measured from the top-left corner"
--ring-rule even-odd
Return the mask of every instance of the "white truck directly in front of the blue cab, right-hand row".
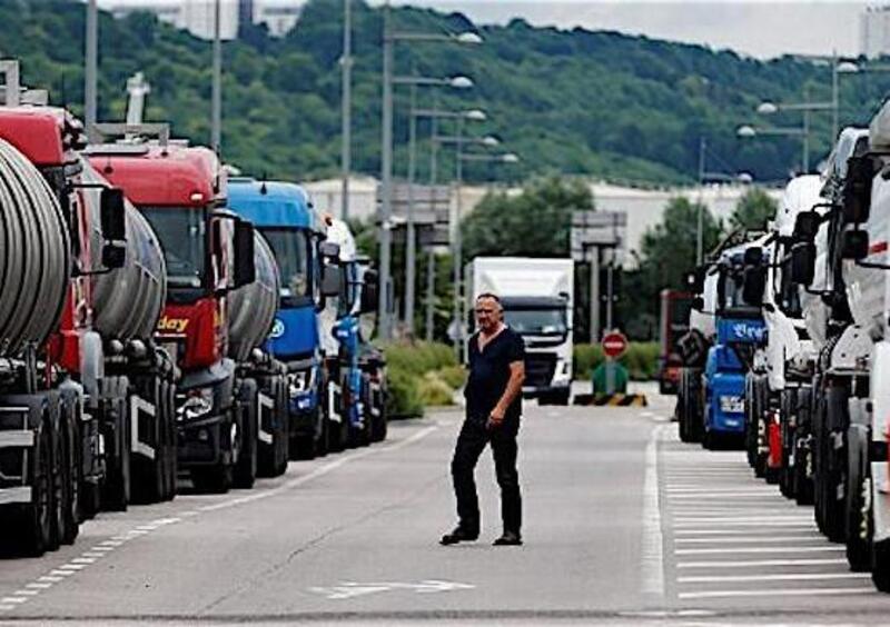
[[804, 321], [800, 288], [792, 281], [791, 251], [798, 216], [824, 207], [822, 188], [818, 175], [789, 181], [769, 223], [765, 253], [759, 265], [745, 269], [745, 280], [754, 282], [748, 290], [754, 298], [751, 305], [761, 307], [767, 325], [745, 381], [748, 459], [758, 477], [778, 482], [784, 496], [801, 504], [812, 498], [803, 442], [817, 354]]

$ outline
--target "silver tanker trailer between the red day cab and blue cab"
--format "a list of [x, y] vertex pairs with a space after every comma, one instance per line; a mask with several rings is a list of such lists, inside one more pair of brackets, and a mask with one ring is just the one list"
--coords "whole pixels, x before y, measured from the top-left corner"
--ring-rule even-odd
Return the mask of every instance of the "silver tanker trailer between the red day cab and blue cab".
[[287, 368], [264, 349], [278, 311], [278, 265], [266, 239], [254, 231], [256, 279], [229, 297], [229, 357], [237, 365], [236, 389], [247, 409], [236, 480], [250, 487], [287, 469]]

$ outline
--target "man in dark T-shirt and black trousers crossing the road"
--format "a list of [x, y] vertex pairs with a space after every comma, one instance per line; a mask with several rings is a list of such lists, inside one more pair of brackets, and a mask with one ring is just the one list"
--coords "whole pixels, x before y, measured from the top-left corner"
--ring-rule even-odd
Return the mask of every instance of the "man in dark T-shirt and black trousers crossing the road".
[[485, 445], [491, 444], [504, 522], [504, 533], [494, 544], [517, 546], [522, 544], [522, 497], [516, 471], [516, 435], [525, 379], [525, 344], [504, 325], [504, 309], [493, 293], [476, 299], [476, 326], [478, 331], [469, 338], [469, 378], [464, 390], [466, 419], [452, 459], [459, 521], [441, 543], [453, 545], [479, 537], [474, 470]]

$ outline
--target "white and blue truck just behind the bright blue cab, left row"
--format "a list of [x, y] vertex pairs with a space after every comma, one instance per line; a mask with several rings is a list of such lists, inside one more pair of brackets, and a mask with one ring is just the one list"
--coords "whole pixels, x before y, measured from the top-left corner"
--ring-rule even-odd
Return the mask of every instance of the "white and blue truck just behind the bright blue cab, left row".
[[358, 255], [346, 222], [332, 216], [325, 222], [326, 241], [336, 247], [322, 279], [325, 416], [328, 446], [342, 450], [386, 439], [386, 359], [369, 341], [377, 311], [377, 272]]

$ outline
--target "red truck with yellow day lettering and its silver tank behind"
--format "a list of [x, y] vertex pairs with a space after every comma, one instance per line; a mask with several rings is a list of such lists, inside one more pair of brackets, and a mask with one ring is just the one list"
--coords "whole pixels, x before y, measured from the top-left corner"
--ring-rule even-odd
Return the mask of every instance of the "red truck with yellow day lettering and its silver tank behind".
[[[180, 374], [179, 468], [198, 490], [250, 487], [256, 372], [266, 359], [255, 349], [275, 317], [275, 259], [250, 222], [225, 208], [227, 173], [211, 150], [171, 141], [168, 125], [97, 125], [91, 135], [105, 142], [88, 148], [89, 161], [123, 190], [164, 246], [168, 290], [155, 337]], [[122, 139], [108, 141], [115, 137]]]

